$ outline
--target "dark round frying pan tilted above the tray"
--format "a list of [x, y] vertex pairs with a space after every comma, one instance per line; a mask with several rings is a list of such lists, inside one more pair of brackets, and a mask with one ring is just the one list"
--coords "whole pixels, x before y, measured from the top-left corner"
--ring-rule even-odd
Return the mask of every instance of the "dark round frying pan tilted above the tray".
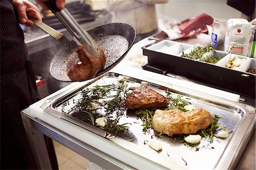
[[[126, 23], [105, 24], [87, 32], [100, 45], [106, 56], [104, 69], [94, 77], [108, 72], [117, 65], [126, 56], [136, 36], [134, 28]], [[49, 66], [49, 72], [53, 78], [59, 81], [72, 81], [68, 77], [68, 71], [79, 61], [76, 47], [77, 44], [72, 41], [61, 47], [53, 57]]]

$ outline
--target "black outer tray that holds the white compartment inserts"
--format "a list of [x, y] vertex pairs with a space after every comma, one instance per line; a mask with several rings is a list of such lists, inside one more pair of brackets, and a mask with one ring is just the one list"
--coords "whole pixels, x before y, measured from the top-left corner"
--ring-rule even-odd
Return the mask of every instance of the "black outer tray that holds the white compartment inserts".
[[184, 76], [217, 89], [255, 98], [255, 74], [148, 49], [156, 43], [158, 42], [142, 48], [143, 55], [148, 56], [148, 63], [143, 66], [143, 69]]

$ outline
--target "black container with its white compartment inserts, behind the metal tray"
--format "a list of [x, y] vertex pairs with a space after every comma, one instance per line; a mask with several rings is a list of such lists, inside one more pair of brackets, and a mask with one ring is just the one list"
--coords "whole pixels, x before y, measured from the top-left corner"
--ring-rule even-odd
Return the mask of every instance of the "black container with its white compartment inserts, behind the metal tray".
[[255, 74], [247, 73], [247, 69], [256, 68], [256, 59], [236, 55], [246, 59], [238, 68], [225, 67], [230, 56], [224, 51], [216, 51], [213, 57], [221, 57], [216, 64], [181, 57], [195, 45], [162, 40], [143, 47], [143, 55], [148, 56], [148, 63], [143, 69], [162, 74], [172, 73], [202, 82], [213, 88], [222, 89], [243, 96], [255, 98]]

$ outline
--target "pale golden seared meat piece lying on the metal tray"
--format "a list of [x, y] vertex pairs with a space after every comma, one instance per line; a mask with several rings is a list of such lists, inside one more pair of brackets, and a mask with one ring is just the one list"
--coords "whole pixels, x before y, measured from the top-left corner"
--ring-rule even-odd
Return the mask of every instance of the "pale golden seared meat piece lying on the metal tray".
[[155, 131], [169, 136], [177, 134], [194, 134], [207, 128], [212, 123], [213, 117], [209, 111], [196, 109], [183, 112], [174, 110], [156, 110], [152, 120]]

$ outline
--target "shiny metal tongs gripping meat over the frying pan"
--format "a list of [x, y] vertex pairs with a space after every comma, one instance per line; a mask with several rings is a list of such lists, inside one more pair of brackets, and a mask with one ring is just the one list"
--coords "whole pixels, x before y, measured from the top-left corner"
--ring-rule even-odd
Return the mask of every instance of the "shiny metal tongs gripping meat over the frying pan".
[[53, 14], [60, 20], [73, 36], [77, 44], [84, 45], [85, 49], [94, 57], [100, 57], [100, 49], [94, 39], [84, 31], [67, 9], [60, 10], [56, 6], [56, 0], [44, 1]]

